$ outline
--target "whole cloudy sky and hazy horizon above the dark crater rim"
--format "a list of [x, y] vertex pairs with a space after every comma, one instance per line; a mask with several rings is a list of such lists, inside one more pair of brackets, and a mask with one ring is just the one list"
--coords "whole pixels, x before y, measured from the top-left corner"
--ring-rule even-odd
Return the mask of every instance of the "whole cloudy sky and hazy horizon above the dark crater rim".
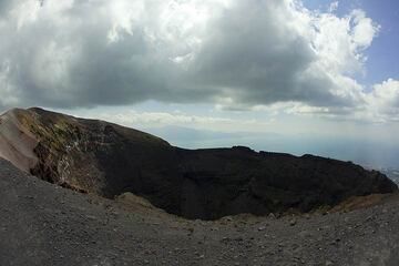
[[399, 168], [399, 2], [1, 0], [0, 110]]

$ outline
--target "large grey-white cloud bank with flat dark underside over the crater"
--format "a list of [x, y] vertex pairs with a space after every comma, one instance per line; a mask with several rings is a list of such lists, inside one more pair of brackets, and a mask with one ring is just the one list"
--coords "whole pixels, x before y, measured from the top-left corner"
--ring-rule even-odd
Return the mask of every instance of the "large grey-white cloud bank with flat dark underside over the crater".
[[352, 78], [379, 27], [361, 10], [337, 17], [337, 6], [324, 13], [299, 0], [1, 1], [0, 105], [358, 110], [381, 94]]

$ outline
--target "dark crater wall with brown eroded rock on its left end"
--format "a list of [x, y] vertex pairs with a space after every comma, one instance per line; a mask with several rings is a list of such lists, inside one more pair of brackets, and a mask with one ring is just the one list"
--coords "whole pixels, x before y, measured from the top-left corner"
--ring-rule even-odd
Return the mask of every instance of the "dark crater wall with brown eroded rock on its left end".
[[19, 168], [105, 197], [131, 192], [188, 218], [307, 212], [397, 190], [379, 172], [351, 163], [247, 147], [183, 150], [144, 132], [41, 109], [12, 110], [0, 123], [0, 155]]

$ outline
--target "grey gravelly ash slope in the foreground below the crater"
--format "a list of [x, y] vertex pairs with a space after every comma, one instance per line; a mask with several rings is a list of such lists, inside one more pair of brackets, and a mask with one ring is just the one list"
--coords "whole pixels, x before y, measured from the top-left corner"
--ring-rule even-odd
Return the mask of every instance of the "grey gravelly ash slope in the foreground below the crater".
[[278, 219], [186, 221], [121, 206], [0, 160], [0, 265], [399, 265], [397, 195], [349, 213]]

